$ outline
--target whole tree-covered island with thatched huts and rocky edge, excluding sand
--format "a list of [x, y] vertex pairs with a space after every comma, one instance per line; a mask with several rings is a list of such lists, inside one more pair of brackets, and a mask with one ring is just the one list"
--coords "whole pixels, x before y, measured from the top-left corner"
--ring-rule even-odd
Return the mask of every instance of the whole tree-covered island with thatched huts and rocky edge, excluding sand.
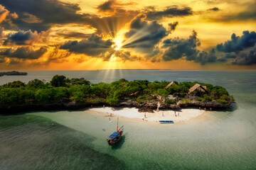
[[91, 84], [86, 79], [55, 75], [50, 82], [33, 79], [0, 86], [1, 113], [91, 108], [95, 106], [153, 109], [228, 108], [235, 100], [222, 86], [177, 81], [127, 81]]

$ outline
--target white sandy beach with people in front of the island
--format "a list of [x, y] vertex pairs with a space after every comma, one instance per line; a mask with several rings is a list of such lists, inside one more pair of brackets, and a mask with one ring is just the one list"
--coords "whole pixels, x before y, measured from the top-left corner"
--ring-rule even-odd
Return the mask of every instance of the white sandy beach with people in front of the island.
[[[159, 111], [154, 113], [139, 113], [137, 108], [90, 108], [90, 111], [96, 111], [99, 113], [104, 113], [107, 115], [118, 115], [124, 118], [133, 118], [142, 121], [149, 122], [159, 122], [159, 120], [174, 120], [174, 123], [188, 121], [192, 118], [198, 117], [198, 115], [203, 114], [205, 111], [195, 109], [195, 108], [183, 108], [179, 111], [176, 111], [176, 116], [174, 111], [166, 110]], [[146, 118], [145, 118], [146, 115]]]

